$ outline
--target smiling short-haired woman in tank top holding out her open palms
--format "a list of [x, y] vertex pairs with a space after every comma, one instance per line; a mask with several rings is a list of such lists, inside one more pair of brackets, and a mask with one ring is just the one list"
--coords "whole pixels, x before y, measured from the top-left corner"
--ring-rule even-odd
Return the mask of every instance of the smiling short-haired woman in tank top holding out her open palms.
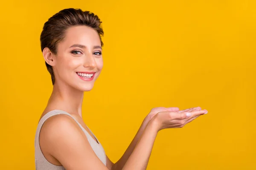
[[145, 170], [157, 132], [183, 127], [201, 108], [153, 108], [124, 155], [112, 163], [84, 124], [81, 106], [103, 67], [103, 30], [97, 15], [64, 9], [44, 24], [41, 50], [53, 91], [35, 135], [37, 170]]

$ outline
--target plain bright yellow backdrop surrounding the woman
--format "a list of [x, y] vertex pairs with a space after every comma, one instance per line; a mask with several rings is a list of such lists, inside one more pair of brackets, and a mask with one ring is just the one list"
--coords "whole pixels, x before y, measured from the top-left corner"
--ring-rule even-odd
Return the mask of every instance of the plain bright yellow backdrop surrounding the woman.
[[157, 136], [148, 170], [256, 169], [255, 0], [8, 0], [0, 10], [0, 169], [34, 170], [52, 91], [40, 33], [63, 8], [103, 21], [104, 68], [83, 118], [117, 161], [154, 107], [209, 113]]

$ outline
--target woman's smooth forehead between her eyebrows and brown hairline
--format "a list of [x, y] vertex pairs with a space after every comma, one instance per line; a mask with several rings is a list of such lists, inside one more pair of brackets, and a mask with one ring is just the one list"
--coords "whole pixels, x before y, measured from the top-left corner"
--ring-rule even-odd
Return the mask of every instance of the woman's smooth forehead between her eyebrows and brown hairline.
[[62, 45], [70, 47], [73, 44], [85, 46], [101, 45], [99, 34], [88, 26], [72, 26], [65, 31]]

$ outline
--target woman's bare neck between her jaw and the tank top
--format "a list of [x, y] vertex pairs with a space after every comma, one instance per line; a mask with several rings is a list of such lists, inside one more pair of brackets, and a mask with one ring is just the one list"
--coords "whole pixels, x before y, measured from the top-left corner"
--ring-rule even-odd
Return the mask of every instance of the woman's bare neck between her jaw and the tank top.
[[84, 92], [65, 83], [55, 82], [47, 106], [82, 117]]

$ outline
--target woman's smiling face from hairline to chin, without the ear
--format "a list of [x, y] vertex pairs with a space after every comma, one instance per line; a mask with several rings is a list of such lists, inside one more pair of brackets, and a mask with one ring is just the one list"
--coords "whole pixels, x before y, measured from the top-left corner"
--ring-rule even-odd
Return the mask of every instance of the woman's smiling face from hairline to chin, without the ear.
[[99, 34], [87, 26], [68, 28], [54, 57], [55, 82], [90, 91], [103, 67]]

